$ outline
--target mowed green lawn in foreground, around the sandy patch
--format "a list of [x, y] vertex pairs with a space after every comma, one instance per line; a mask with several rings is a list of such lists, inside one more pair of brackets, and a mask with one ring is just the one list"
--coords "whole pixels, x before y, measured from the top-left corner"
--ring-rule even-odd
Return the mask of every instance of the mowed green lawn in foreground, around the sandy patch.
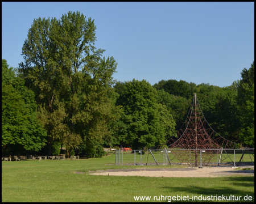
[[[250, 176], [175, 178], [88, 174], [88, 171], [102, 169], [145, 168], [109, 165], [114, 162], [115, 155], [98, 159], [2, 162], [2, 202], [142, 202], [135, 201], [135, 196], [151, 196], [151, 201], [144, 202], [154, 202], [154, 196], [222, 195], [251, 196], [250, 202], [254, 202], [254, 177]], [[146, 168], [152, 167], [156, 168]], [[167, 201], [162, 199], [162, 202]]]

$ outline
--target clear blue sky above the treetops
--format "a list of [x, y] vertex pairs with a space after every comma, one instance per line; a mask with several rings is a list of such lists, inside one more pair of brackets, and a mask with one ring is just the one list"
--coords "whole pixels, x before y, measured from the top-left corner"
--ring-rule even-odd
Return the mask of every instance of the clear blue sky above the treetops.
[[230, 86], [254, 61], [254, 2], [2, 2], [2, 58], [23, 61], [36, 18], [80, 11], [96, 47], [117, 61], [114, 79], [176, 79]]

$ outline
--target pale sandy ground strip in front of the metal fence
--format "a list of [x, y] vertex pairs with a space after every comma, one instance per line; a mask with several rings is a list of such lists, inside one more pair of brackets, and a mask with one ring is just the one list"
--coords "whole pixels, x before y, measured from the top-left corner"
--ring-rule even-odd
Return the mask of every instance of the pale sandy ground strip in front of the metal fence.
[[[243, 167], [244, 168], [244, 167]], [[237, 167], [186, 167], [186, 168], [147, 168], [147, 169], [113, 169], [89, 172], [91, 175], [105, 176], [149, 176], [149, 177], [220, 177], [220, 176], [254, 176], [254, 167], [242, 170]]]

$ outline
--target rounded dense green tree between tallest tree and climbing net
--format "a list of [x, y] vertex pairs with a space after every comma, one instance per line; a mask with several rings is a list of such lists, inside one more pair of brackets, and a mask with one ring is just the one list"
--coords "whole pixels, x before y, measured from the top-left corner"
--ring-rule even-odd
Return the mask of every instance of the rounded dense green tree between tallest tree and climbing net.
[[175, 122], [165, 106], [156, 103], [157, 92], [146, 80], [123, 84], [117, 105], [122, 105], [127, 126], [126, 143], [132, 148], [164, 143], [175, 132]]

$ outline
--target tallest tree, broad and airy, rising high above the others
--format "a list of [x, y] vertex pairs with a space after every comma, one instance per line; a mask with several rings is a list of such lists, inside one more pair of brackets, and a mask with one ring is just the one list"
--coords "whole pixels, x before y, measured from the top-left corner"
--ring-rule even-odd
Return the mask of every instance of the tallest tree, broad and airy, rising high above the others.
[[[52, 146], [63, 144], [67, 155], [82, 142], [93, 148], [108, 132], [105, 114], [117, 63], [102, 58], [105, 50], [94, 47], [94, 20], [80, 12], [56, 18], [35, 19], [23, 45], [19, 65], [26, 86], [34, 90], [40, 120]], [[57, 127], [57, 128], [56, 128]]]

